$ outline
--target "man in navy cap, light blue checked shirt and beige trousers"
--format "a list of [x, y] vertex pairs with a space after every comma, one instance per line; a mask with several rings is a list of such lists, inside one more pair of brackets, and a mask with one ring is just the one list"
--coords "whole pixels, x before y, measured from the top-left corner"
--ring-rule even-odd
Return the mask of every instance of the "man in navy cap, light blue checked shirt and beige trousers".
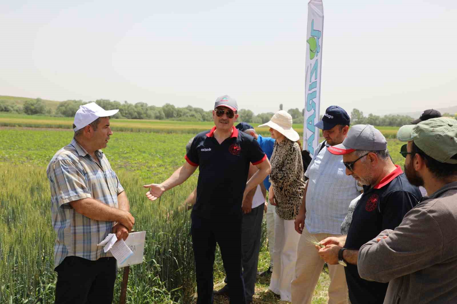
[[[321, 121], [315, 126], [322, 129], [325, 141], [305, 172], [309, 178], [303, 201], [295, 220], [295, 230], [301, 234], [298, 242], [298, 257], [295, 276], [291, 283], [292, 303], [310, 304], [319, 274], [324, 267], [313, 244], [308, 239], [323, 240], [329, 236], [340, 236], [340, 227], [345, 219], [352, 199], [362, 188], [356, 180], [345, 174], [341, 155], [327, 151], [327, 147], [340, 144], [349, 130], [350, 118], [337, 105], [325, 110]], [[345, 270], [341, 265], [329, 265], [329, 303], [345, 304], [348, 299]]]

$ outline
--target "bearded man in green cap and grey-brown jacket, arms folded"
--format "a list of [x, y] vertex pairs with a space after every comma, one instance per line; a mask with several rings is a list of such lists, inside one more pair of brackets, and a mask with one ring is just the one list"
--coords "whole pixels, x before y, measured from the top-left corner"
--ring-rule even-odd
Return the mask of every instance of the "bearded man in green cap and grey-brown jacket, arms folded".
[[457, 303], [457, 121], [402, 126], [397, 138], [409, 182], [430, 196], [360, 248], [358, 272], [390, 282], [384, 304]]

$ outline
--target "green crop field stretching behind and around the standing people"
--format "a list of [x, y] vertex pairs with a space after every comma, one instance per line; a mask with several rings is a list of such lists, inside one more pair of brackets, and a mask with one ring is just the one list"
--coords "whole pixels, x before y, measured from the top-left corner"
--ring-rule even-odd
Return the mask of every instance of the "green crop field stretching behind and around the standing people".
[[[0, 303], [53, 303], [55, 234], [45, 169], [53, 154], [73, 136], [71, 129], [55, 126], [71, 125], [72, 120], [32, 117], [34, 119], [27, 119], [26, 115], [0, 115], [0, 122], [18, 119], [47, 128], [0, 127]], [[46, 125], [54, 121], [58, 121], [54, 127]], [[130, 270], [128, 303], [194, 303], [196, 284], [190, 213], [179, 212], [177, 207], [195, 188], [197, 174], [155, 202], [145, 198], [142, 185], [159, 183], [168, 177], [184, 162], [185, 145], [195, 130], [207, 130], [211, 123], [128, 120], [111, 123], [114, 134], [104, 152], [128, 194], [136, 219], [135, 230], [147, 231], [144, 262]], [[119, 124], [134, 131], [117, 130]], [[175, 132], [166, 133], [165, 130], [172, 127]], [[301, 133], [302, 128], [296, 129]], [[403, 166], [404, 158], [399, 154], [401, 143], [388, 139], [388, 145], [394, 162]], [[264, 234], [259, 268], [266, 269], [269, 259]], [[223, 277], [223, 265], [217, 256], [215, 288], [223, 286]], [[115, 303], [121, 278], [122, 270], [118, 273]], [[328, 271], [324, 270], [314, 304], [327, 302], [328, 283]], [[257, 282], [256, 303], [279, 303], [265, 292], [268, 284], [266, 279]], [[228, 301], [224, 298], [215, 299], [215, 304], [225, 303]]]

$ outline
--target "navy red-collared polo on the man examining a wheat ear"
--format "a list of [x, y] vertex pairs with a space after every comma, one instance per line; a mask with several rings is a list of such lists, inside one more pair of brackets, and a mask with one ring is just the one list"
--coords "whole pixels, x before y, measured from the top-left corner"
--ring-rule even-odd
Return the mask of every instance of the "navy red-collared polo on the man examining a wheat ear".
[[[359, 250], [385, 229], [395, 229], [404, 215], [419, 203], [422, 195], [408, 182], [398, 166], [376, 186], [364, 186], [363, 195], [356, 204], [347, 233], [345, 248]], [[378, 283], [360, 278], [357, 265], [345, 267], [349, 299], [352, 304], [384, 302], [388, 283]]]

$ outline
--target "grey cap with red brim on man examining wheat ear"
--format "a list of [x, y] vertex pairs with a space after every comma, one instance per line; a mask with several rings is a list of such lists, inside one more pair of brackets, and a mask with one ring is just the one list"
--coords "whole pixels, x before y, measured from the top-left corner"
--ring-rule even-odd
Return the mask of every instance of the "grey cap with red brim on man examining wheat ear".
[[355, 125], [351, 126], [342, 143], [327, 149], [336, 155], [349, 154], [356, 150], [381, 151], [387, 149], [387, 141], [374, 126]]

